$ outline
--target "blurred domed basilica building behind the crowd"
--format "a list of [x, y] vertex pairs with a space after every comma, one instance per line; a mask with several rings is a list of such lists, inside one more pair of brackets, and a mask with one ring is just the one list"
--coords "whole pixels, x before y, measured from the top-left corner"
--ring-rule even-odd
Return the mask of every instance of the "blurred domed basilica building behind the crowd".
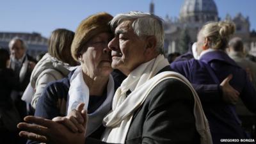
[[[154, 12], [152, 8], [154, 6], [150, 3], [150, 12]], [[191, 43], [196, 42], [196, 35], [206, 22], [219, 20], [221, 19], [218, 16], [218, 9], [214, 0], [184, 0], [178, 18], [171, 19], [166, 16], [164, 19], [164, 50], [168, 54], [180, 52], [180, 34], [184, 29], [188, 31], [191, 41], [188, 45], [191, 45]], [[232, 20], [236, 24], [234, 36], [243, 38], [246, 51], [256, 56], [256, 32], [250, 31], [249, 18], [237, 13], [235, 17], [227, 14], [223, 20]]]

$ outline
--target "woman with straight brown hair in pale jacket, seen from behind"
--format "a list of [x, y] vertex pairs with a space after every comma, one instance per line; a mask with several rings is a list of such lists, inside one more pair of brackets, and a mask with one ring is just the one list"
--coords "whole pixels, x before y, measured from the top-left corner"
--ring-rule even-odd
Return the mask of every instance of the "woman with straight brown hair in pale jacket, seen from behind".
[[[35, 92], [31, 100], [33, 108], [36, 108], [36, 102], [42, 95], [47, 83], [68, 76], [70, 72], [68, 68], [77, 65], [77, 62], [70, 58], [70, 47], [73, 38], [73, 31], [67, 29], [56, 29], [52, 31], [48, 42], [48, 52], [36, 64], [30, 77], [31, 85], [28, 85]], [[26, 92], [23, 94], [24, 97], [29, 97], [28, 95], [31, 94]]]

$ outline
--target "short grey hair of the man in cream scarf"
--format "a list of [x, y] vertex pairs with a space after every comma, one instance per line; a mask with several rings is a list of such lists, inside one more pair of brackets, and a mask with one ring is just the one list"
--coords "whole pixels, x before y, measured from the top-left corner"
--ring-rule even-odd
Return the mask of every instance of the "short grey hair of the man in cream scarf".
[[120, 13], [111, 20], [111, 29], [115, 29], [125, 20], [133, 20], [132, 29], [137, 36], [155, 36], [157, 40], [156, 48], [159, 54], [164, 54], [164, 29], [163, 19], [151, 13], [129, 12]]

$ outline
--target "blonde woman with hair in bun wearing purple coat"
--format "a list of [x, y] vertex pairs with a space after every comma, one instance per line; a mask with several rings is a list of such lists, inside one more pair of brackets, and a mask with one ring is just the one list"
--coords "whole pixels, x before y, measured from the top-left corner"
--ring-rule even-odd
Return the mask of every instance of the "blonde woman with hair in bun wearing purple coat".
[[[198, 60], [172, 63], [171, 67], [194, 84], [220, 84], [220, 81], [232, 74], [230, 86], [240, 93], [239, 97], [246, 107], [255, 113], [256, 92], [252, 83], [246, 72], [237, 66], [225, 52], [228, 37], [234, 31], [235, 26], [232, 22], [206, 24], [197, 36]], [[227, 80], [230, 80], [232, 76], [229, 76]], [[200, 97], [205, 115], [209, 120], [213, 143], [221, 143], [223, 139], [249, 138], [241, 127], [234, 104], [227, 103], [227, 100], [223, 98], [205, 97], [204, 95]]]

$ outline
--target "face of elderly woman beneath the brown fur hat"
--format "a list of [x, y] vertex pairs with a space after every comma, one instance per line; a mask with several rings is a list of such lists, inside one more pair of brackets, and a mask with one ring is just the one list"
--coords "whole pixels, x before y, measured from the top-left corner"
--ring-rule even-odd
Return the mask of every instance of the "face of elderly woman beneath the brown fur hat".
[[85, 45], [81, 57], [84, 74], [95, 76], [109, 76], [111, 68], [111, 50], [108, 49], [108, 42], [111, 40], [110, 33], [99, 33], [93, 36]]

